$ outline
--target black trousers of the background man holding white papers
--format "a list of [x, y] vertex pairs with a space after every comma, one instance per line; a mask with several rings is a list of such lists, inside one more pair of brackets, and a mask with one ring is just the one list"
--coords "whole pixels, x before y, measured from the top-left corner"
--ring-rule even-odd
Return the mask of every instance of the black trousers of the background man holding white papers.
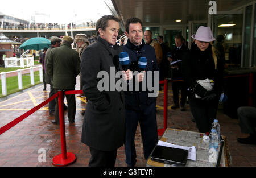
[[187, 87], [184, 82], [172, 82], [174, 104], [179, 104], [179, 91], [181, 91], [180, 105], [184, 106], [187, 101]]

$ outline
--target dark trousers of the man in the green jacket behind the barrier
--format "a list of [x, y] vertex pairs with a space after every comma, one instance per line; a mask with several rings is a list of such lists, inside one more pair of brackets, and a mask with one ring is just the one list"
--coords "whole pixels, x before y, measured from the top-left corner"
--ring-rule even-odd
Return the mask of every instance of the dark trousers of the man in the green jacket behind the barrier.
[[[58, 90], [60, 89], [54, 89], [55, 93], [58, 92]], [[69, 90], [75, 90], [75, 89], [66, 89], [65, 91], [69, 91]], [[75, 116], [76, 116], [76, 98], [75, 98], [75, 94], [68, 94], [65, 95], [68, 101], [68, 121], [69, 122], [74, 122], [75, 121]], [[64, 101], [64, 97], [63, 97], [63, 101]], [[59, 122], [59, 102], [58, 102], [58, 97], [55, 98], [55, 121]], [[63, 104], [64, 105], [64, 104]]]

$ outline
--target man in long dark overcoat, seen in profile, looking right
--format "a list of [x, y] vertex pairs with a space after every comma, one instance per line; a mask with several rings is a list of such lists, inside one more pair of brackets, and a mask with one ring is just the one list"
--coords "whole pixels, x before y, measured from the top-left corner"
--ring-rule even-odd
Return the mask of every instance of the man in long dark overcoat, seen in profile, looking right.
[[[115, 74], [122, 71], [118, 60], [122, 47], [115, 45], [118, 31], [118, 18], [102, 16], [96, 24], [97, 42], [81, 57], [82, 90], [88, 100], [81, 141], [90, 147], [89, 166], [114, 167], [117, 149], [125, 141], [125, 98], [115, 89], [119, 80]], [[107, 89], [100, 89], [102, 80], [107, 80], [103, 84]]]

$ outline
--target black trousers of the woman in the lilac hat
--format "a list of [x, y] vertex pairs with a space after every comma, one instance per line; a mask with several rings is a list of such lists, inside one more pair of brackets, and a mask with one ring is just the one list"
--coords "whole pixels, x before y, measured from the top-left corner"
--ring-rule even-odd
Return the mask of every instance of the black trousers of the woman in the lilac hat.
[[210, 133], [213, 120], [216, 119], [218, 100], [203, 101], [201, 98], [189, 97], [191, 113], [196, 120], [200, 133]]

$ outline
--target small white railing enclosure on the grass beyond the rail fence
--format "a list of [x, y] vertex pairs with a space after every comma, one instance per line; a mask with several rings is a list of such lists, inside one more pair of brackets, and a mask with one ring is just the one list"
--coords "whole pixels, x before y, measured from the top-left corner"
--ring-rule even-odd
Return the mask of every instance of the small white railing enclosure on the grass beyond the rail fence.
[[[34, 57], [6, 57], [3, 61], [5, 61], [5, 68], [8, 67], [31, 67], [34, 66]], [[24, 64], [24, 61], [26, 61], [26, 64]]]

